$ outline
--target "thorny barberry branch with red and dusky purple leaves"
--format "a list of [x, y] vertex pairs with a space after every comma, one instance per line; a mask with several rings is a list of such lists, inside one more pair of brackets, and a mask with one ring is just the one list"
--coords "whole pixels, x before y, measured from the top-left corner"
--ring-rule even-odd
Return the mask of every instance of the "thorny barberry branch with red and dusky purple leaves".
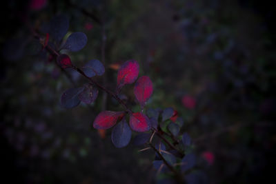
[[[49, 53], [48, 59], [55, 59], [57, 66], [64, 72], [75, 70], [88, 79], [88, 83], [65, 90], [61, 94], [61, 106], [70, 109], [77, 107], [81, 102], [89, 105], [97, 99], [99, 89], [106, 92], [118, 101], [124, 110], [103, 110], [92, 121], [95, 129], [112, 128], [111, 141], [115, 147], [126, 147], [133, 135], [132, 144], [137, 147], [144, 146], [139, 152], [146, 150], [155, 152], [152, 165], [157, 174], [167, 174], [166, 177], [175, 179], [179, 183], [195, 180], [197, 173], [185, 174], [195, 166], [197, 159], [192, 151], [190, 136], [182, 129], [184, 121], [173, 108], [146, 107], [153, 94], [153, 84], [149, 76], [139, 76], [139, 62], [134, 59], [125, 61], [117, 72], [116, 88], [113, 91], [108, 90], [94, 79], [105, 73], [105, 65], [101, 61], [90, 59], [81, 67], [72, 62], [68, 52], [78, 52], [83, 49], [88, 38], [83, 32], [73, 32], [64, 40], [68, 28], [68, 18], [59, 14], [41, 30], [32, 30], [34, 39], [40, 43], [38, 50], [46, 50]], [[120, 98], [124, 86], [133, 83], [135, 83], [133, 94], [140, 106], [140, 110], [135, 112]]]

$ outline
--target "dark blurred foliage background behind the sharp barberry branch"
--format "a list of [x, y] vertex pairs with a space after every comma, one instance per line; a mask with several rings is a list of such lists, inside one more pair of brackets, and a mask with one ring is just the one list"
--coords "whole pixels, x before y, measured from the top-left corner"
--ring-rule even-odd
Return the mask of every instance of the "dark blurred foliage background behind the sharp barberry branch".
[[[172, 107], [184, 118], [197, 169], [208, 183], [268, 183], [276, 163], [275, 10], [269, 1], [71, 2], [104, 20], [107, 88], [116, 85], [112, 64], [139, 61], [139, 75], [154, 84], [147, 108]], [[61, 108], [59, 97], [72, 84], [46, 52], [34, 55], [32, 44], [23, 44], [32, 40], [23, 19], [39, 29], [55, 14], [66, 14], [69, 31], [88, 36], [83, 50], [70, 53], [82, 65], [101, 60], [101, 26], [68, 1], [47, 1], [39, 10], [29, 3], [1, 6], [1, 183], [159, 181], [153, 152], [138, 153], [131, 143], [117, 149], [110, 130], [103, 139], [92, 128], [101, 110], [119, 105], [110, 97], [104, 102], [100, 91], [90, 106]], [[71, 75], [75, 83], [85, 82]], [[132, 88], [123, 93], [138, 110]], [[195, 108], [187, 108], [183, 96], [194, 99]], [[214, 163], [206, 163], [204, 152], [214, 155]]]

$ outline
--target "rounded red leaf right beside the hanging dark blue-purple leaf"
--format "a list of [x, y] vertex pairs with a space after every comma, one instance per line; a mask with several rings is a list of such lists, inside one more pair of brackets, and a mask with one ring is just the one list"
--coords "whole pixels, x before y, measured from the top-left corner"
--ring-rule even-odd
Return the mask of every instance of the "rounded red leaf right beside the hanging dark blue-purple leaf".
[[146, 132], [150, 130], [150, 120], [145, 114], [135, 112], [130, 115], [130, 127], [136, 132]]

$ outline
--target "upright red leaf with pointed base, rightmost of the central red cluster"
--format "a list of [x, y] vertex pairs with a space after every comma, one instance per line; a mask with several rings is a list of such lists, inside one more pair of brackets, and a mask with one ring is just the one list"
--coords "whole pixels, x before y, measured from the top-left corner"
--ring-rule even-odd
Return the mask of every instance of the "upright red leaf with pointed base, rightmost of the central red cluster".
[[148, 76], [141, 76], [135, 83], [134, 94], [139, 101], [141, 108], [144, 108], [146, 101], [150, 99], [152, 91], [152, 82]]

